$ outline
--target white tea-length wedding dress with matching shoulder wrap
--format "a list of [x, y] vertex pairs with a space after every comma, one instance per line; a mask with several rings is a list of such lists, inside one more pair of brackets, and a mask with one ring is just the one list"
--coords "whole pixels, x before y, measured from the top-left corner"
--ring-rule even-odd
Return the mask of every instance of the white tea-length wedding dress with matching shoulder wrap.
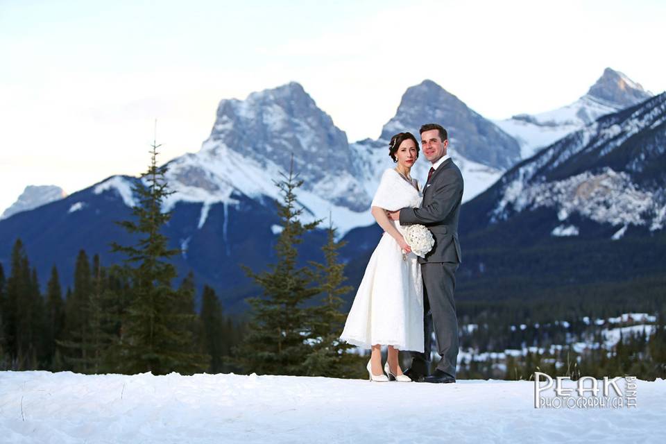
[[[371, 205], [395, 211], [418, 207], [421, 200], [416, 187], [387, 169]], [[392, 223], [402, 232], [398, 221]], [[361, 348], [381, 344], [423, 352], [421, 268], [414, 253], [403, 259], [402, 248], [386, 232], [370, 257], [340, 339]]]

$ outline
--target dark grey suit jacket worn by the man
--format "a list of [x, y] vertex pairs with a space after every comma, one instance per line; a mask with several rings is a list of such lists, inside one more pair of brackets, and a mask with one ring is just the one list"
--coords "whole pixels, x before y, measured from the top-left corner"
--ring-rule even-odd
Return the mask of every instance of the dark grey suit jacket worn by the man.
[[458, 216], [463, 200], [463, 175], [453, 160], [445, 160], [425, 183], [423, 202], [418, 208], [402, 208], [400, 225], [425, 225], [435, 245], [418, 262], [462, 262], [458, 241]]

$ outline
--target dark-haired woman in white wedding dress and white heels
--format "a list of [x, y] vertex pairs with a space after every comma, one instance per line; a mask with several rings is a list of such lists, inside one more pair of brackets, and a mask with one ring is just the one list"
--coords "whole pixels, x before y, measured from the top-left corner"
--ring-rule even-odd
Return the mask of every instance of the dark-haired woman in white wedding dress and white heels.
[[[402, 374], [398, 350], [423, 352], [421, 269], [404, 241], [400, 223], [388, 219], [386, 211], [420, 205], [418, 183], [409, 176], [419, 149], [411, 133], [394, 135], [388, 146], [395, 169], [384, 171], [371, 204], [384, 234], [370, 257], [340, 338], [372, 350], [367, 366], [371, 381], [410, 382]], [[382, 345], [388, 346], [384, 365], [388, 377], [382, 372]]]

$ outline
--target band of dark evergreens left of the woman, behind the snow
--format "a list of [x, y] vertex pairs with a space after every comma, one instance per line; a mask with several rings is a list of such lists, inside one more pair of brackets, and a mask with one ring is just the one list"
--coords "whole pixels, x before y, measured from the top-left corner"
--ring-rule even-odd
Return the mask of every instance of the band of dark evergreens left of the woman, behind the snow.
[[151, 164], [133, 186], [137, 205], [133, 218], [118, 221], [136, 239], [134, 244], [110, 242], [123, 255], [122, 264], [92, 262], [85, 250], [76, 258], [73, 288], [62, 294], [54, 265], [40, 293], [37, 271], [17, 239], [10, 271], [0, 264], [0, 369], [71, 370], [77, 373], [178, 372], [262, 373], [357, 377], [363, 366], [338, 340], [346, 314], [341, 296], [344, 265], [332, 223], [322, 247], [324, 260], [302, 265], [298, 244], [321, 220], [302, 223], [296, 189], [302, 180], [293, 171], [275, 182], [282, 230], [275, 244], [275, 263], [266, 271], [246, 268], [261, 293], [251, 298], [248, 321], [225, 315], [214, 289], [205, 285], [196, 312], [196, 286], [190, 273], [178, 284], [162, 234], [171, 212], [162, 212], [172, 194], [157, 166]]

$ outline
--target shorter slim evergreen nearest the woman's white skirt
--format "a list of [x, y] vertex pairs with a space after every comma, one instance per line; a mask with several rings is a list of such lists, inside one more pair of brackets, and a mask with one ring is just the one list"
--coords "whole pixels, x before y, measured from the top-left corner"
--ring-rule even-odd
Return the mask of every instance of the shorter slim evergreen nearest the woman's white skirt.
[[324, 262], [312, 262], [321, 289], [320, 305], [310, 309], [313, 351], [307, 357], [307, 374], [312, 376], [350, 377], [357, 375], [359, 359], [348, 351], [353, 345], [340, 341], [347, 314], [342, 311], [342, 295], [352, 290], [343, 286], [345, 265], [338, 260], [338, 250], [344, 242], [335, 241], [335, 228], [329, 216], [327, 242], [322, 247]]

